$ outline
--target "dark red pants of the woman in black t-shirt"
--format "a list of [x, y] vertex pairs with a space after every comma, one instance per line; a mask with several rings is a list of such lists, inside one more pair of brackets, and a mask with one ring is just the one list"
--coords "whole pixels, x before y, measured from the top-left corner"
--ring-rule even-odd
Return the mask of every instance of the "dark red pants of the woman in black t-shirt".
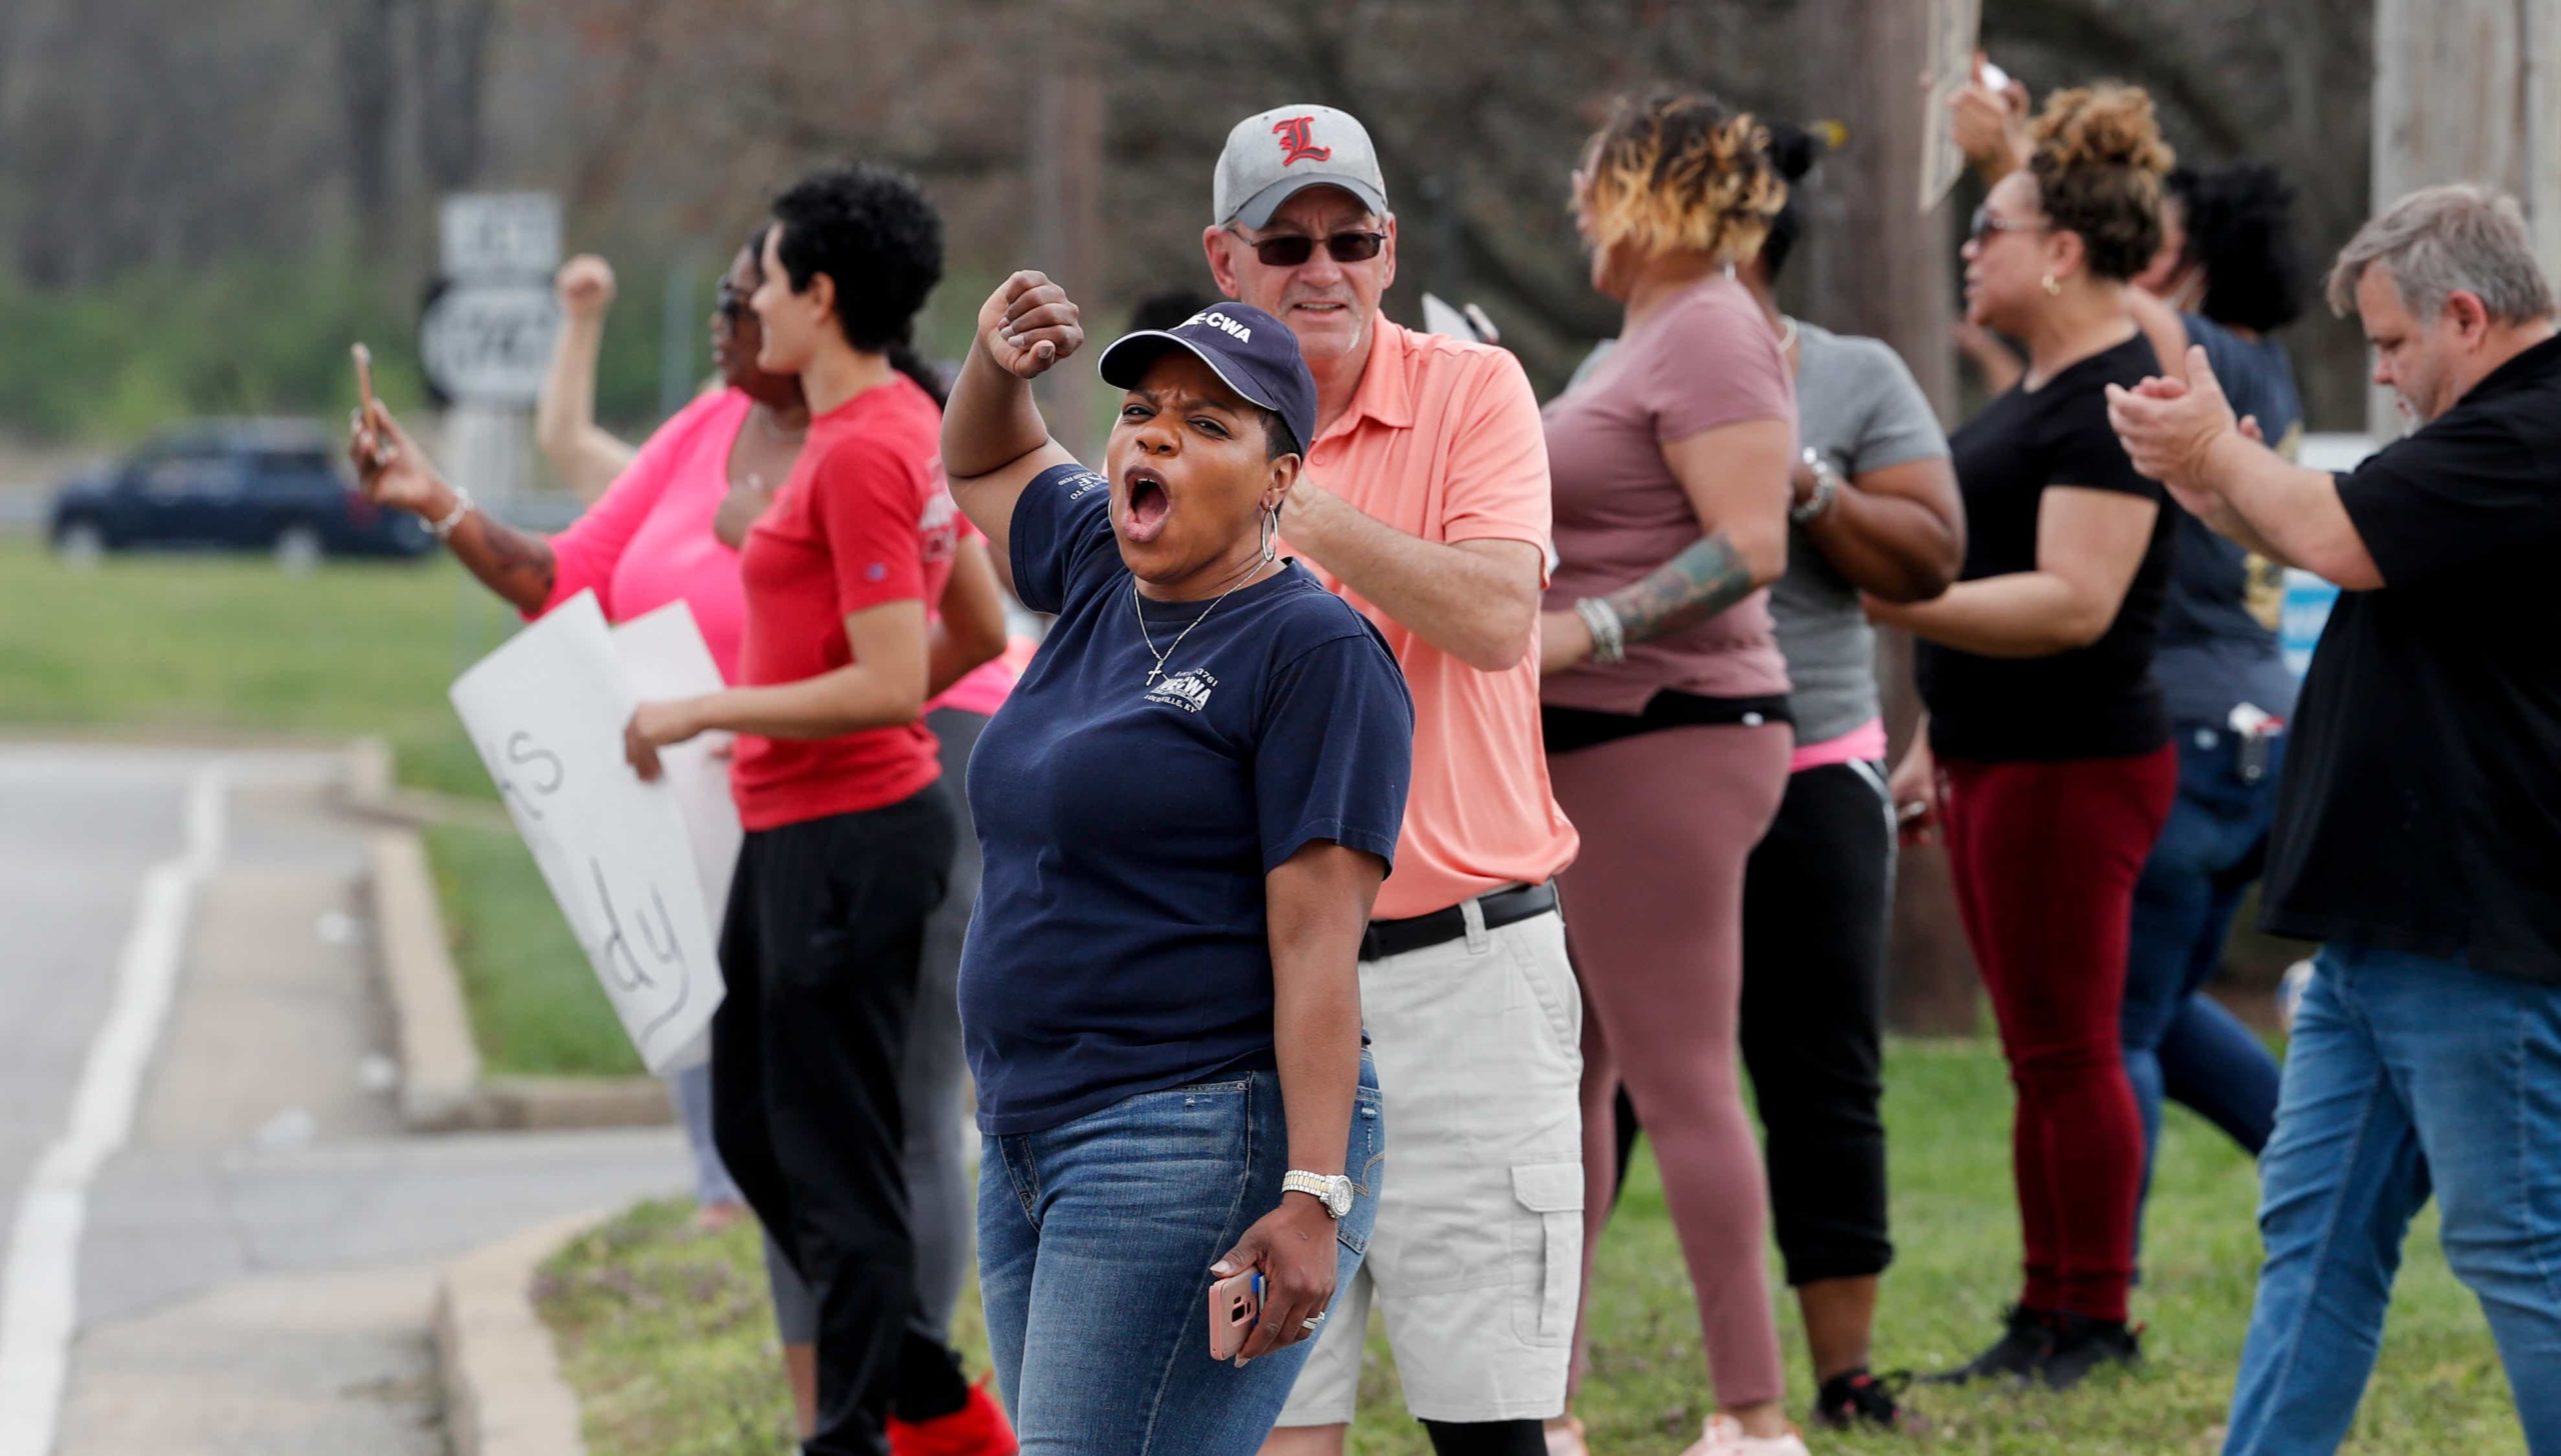
[[2179, 757], [1941, 760], [1964, 939], [2000, 1021], [2031, 1310], [2126, 1318], [2144, 1123], [2118, 1052], [2133, 883]]

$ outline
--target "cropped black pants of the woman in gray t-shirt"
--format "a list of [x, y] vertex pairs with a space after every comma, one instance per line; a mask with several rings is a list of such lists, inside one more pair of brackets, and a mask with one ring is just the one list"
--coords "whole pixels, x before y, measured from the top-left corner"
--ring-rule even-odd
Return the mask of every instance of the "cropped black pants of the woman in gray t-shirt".
[[[1744, 867], [1741, 1052], [1790, 1287], [1882, 1274], [1895, 1256], [1877, 1111], [1893, 885], [1882, 770], [1839, 763], [1788, 775]], [[1621, 1177], [1636, 1131], [1619, 1093]]]

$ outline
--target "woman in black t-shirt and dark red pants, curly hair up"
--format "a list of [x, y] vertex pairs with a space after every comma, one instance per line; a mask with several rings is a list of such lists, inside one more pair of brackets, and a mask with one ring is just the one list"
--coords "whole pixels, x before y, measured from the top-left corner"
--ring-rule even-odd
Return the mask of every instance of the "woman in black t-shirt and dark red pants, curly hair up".
[[2059, 92], [1964, 246], [1969, 320], [2028, 343], [2026, 379], [1949, 445], [1964, 573], [1870, 604], [1923, 640], [1928, 734], [1895, 770], [1944, 814], [1957, 908], [2018, 1088], [2026, 1290], [1949, 1379], [2051, 1387], [2136, 1359], [2126, 1325], [2144, 1128], [2118, 1052], [2126, 929], [2177, 788], [2151, 642], [2172, 514], [2108, 427], [2108, 384], [2156, 374], [2126, 279], [2159, 243], [2169, 146], [2131, 87]]

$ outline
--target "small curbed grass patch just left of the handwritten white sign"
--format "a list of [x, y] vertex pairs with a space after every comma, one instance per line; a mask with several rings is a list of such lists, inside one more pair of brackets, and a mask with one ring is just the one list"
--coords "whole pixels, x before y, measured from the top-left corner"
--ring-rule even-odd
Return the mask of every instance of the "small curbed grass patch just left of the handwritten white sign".
[[638, 1077], [643, 1072], [586, 952], [510, 829], [428, 827], [471, 1039], [489, 1075]]

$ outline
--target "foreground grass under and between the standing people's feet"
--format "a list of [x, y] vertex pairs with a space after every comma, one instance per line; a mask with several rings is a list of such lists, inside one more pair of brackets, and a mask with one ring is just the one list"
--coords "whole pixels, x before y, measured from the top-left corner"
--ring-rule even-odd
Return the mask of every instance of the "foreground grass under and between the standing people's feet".
[[[1880, 1310], [1880, 1366], [1957, 1364], [1990, 1343], [2016, 1295], [2010, 1093], [1982, 1041], [1898, 1041], [1887, 1052], [1895, 1269]], [[1816, 1451], [2210, 1453], [2220, 1443], [2259, 1238], [2256, 1175], [2205, 1123], [2172, 1111], [2151, 1200], [2144, 1369], [2072, 1395], [1918, 1389], [1926, 1438], [1829, 1436]], [[1772, 1285], [1777, 1282], [1772, 1272]], [[786, 1397], [748, 1231], [702, 1236], [676, 1203], [643, 1205], [571, 1244], [543, 1274], [543, 1313], [586, 1402], [594, 1456], [781, 1453]], [[1793, 1300], [1782, 1305], [1793, 1407], [1811, 1400]], [[983, 1366], [976, 1308], [963, 1346]], [[1698, 1320], [1649, 1162], [1629, 1180], [1596, 1279], [1593, 1372], [1580, 1415], [1601, 1456], [1672, 1456], [1708, 1410]], [[1360, 1456], [1426, 1456], [1403, 1418], [1378, 1328], [1352, 1433]], [[2523, 1451], [2479, 1308], [2446, 1272], [2436, 1215], [2410, 1236], [2377, 1379], [2346, 1451]]]

